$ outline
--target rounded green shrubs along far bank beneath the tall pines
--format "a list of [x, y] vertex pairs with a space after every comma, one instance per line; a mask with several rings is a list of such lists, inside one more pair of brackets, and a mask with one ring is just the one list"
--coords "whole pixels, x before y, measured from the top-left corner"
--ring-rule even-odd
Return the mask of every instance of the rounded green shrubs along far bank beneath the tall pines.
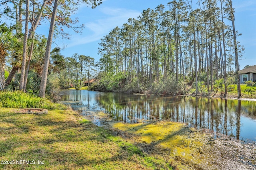
[[[106, 73], [106, 72], [104, 72]], [[186, 83], [172, 78], [164, 78], [159, 81], [154, 81], [151, 87], [147, 87], [148, 81], [141, 78], [134, 77], [132, 80], [126, 80], [126, 77], [122, 72], [111, 75], [104, 74], [103, 72], [98, 75], [98, 84], [93, 84], [90, 89], [98, 91], [108, 92], [128, 92], [128, 93], [153, 93], [153, 94], [170, 94], [170, 95], [182, 95], [185, 94]], [[142, 83], [144, 82], [144, 83]]]

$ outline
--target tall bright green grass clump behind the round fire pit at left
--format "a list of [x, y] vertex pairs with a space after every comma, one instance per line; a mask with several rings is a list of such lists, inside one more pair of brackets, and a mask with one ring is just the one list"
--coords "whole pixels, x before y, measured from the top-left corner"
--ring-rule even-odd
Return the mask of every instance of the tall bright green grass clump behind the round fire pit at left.
[[39, 98], [33, 94], [22, 91], [0, 92], [0, 107], [12, 108], [43, 108], [43, 109], [66, 109], [63, 104], [52, 103], [45, 98]]

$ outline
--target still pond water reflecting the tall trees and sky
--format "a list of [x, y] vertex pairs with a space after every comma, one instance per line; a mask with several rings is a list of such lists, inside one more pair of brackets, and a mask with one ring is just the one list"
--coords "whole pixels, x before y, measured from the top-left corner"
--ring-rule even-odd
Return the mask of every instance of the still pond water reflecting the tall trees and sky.
[[114, 121], [166, 119], [244, 141], [256, 141], [256, 102], [190, 96], [134, 95], [64, 90], [62, 102], [83, 115], [104, 111]]

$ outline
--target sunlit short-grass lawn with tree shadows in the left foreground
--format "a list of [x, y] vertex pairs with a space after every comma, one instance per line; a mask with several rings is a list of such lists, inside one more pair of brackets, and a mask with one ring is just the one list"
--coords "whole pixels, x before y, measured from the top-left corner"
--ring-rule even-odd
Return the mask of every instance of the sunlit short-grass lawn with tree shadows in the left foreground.
[[72, 110], [49, 110], [45, 115], [15, 110], [0, 107], [0, 160], [15, 162], [0, 164], [0, 169], [172, 169], [168, 160], [149, 156]]

